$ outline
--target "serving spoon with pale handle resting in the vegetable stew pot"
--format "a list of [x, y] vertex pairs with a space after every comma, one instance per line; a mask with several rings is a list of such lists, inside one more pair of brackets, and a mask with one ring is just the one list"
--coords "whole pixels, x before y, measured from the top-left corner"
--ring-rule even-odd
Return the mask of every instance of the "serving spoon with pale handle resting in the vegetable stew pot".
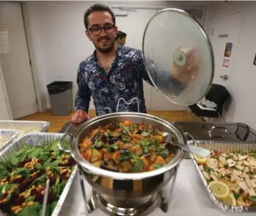
[[194, 155], [200, 156], [203, 158], [206, 158], [211, 154], [211, 151], [206, 148], [173, 142], [172, 135], [169, 132], [158, 132], [158, 133], [164, 137], [164, 140], [165, 140], [164, 145], [168, 145], [168, 144], [175, 145], [181, 148], [182, 150], [185, 150], [188, 153], [193, 153]]

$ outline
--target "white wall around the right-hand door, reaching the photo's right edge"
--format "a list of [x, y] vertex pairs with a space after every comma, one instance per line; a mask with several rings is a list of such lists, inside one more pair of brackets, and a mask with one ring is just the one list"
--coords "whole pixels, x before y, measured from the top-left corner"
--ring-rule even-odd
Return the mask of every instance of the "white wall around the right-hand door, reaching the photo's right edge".
[[[211, 21], [216, 17], [225, 20], [227, 14], [242, 12], [242, 28], [235, 55], [233, 69], [227, 89], [231, 93], [231, 104], [226, 107], [226, 122], [244, 122], [256, 128], [255, 80], [256, 66], [253, 60], [256, 54], [256, 2], [219, 2], [208, 11], [206, 23], [211, 34]], [[220, 21], [221, 22], [221, 21]], [[214, 50], [214, 47], [213, 47]]]

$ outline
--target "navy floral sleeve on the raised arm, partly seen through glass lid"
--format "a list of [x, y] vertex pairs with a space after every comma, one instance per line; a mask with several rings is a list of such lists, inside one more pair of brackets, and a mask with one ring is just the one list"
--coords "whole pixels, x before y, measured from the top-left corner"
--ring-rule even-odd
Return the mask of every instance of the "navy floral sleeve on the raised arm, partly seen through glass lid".
[[[146, 71], [143, 53], [141, 52], [140, 55], [141, 55], [141, 58], [140, 58], [139, 62], [141, 65], [140, 68], [141, 68], [142, 78], [148, 84], [150, 84], [151, 86], [154, 86], [151, 79], [149, 78], [148, 72]], [[149, 60], [146, 60], [146, 61], [149, 62]], [[154, 65], [154, 61], [152, 59], [150, 59], [149, 65]], [[151, 77], [154, 80], [154, 83], [157, 86], [161, 87], [162, 89], [168, 89], [175, 96], [178, 96], [187, 86], [185, 84], [181, 84], [180, 81], [178, 81], [176, 78], [172, 77], [172, 75], [169, 76], [168, 78], [166, 76], [164, 76], [164, 74], [167, 73], [167, 71], [157, 71], [156, 72], [156, 68], [151, 66], [149, 68], [149, 72], [150, 72], [150, 74], [159, 73], [159, 74], [157, 74], [156, 77]], [[163, 76], [161, 76], [161, 73], [163, 74]]]

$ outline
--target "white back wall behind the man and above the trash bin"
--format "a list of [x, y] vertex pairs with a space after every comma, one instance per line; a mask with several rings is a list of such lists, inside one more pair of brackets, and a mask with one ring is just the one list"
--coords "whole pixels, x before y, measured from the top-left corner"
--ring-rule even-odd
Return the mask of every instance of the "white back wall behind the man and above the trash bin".
[[[121, 2], [121, 3], [120, 3]], [[74, 96], [77, 91], [76, 71], [81, 60], [91, 55], [94, 47], [84, 33], [83, 16], [85, 10], [96, 1], [28, 1], [26, 11], [29, 19], [30, 38], [32, 41], [33, 61], [36, 68], [39, 87], [45, 107], [50, 108], [47, 84], [52, 81], [73, 81]], [[112, 1], [110, 6], [151, 7], [152, 9], [177, 6], [186, 9], [195, 4], [197, 8], [205, 2], [171, 1]], [[156, 6], [155, 6], [156, 5]], [[143, 16], [143, 14], [141, 14]], [[118, 19], [118, 18], [117, 18]], [[129, 19], [129, 16], [126, 17]], [[144, 29], [144, 21], [141, 28]], [[133, 25], [133, 20], [129, 22]], [[128, 37], [128, 43], [129, 43]], [[72, 53], [72, 54], [71, 54]], [[146, 96], [151, 99], [151, 96]], [[91, 103], [90, 109], [93, 109]], [[148, 107], [150, 109], [150, 107]]]

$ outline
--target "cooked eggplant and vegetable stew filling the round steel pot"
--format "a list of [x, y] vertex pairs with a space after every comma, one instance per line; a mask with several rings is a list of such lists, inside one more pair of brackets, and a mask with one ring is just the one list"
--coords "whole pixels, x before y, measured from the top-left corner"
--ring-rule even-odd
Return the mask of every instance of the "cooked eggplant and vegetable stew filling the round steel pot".
[[[113, 122], [97, 127], [79, 145], [81, 156], [110, 171], [139, 173], [166, 165], [174, 153], [153, 125]], [[97, 163], [96, 163], [97, 162]]]

